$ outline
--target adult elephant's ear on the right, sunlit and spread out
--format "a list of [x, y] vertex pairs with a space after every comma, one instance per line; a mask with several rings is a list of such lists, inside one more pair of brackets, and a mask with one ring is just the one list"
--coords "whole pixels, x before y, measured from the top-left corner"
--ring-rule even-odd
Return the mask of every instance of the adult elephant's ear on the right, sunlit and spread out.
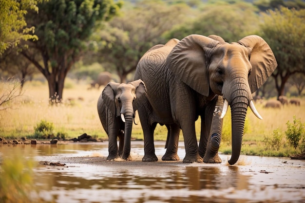
[[275, 56], [267, 42], [259, 36], [251, 35], [242, 38], [237, 43], [247, 47], [250, 51], [252, 72], [248, 82], [251, 92], [259, 89], [277, 67]]

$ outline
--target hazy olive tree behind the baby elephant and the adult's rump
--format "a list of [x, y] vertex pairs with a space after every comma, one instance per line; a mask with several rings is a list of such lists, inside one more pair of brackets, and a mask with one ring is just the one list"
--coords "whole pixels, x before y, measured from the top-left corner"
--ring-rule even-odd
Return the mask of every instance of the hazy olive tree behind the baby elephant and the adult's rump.
[[113, 67], [121, 82], [133, 73], [141, 56], [153, 45], [165, 43], [162, 35], [180, 23], [190, 8], [185, 4], [167, 5], [162, 1], [141, 1], [105, 29], [95, 32], [92, 41], [106, 69]]

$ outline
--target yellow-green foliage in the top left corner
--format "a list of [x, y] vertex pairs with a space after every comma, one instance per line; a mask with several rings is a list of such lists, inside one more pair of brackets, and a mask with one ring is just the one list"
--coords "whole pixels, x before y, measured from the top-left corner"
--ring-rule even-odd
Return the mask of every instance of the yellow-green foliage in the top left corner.
[[0, 55], [21, 40], [37, 40], [34, 27], [26, 27], [28, 10], [38, 12], [37, 0], [0, 0]]

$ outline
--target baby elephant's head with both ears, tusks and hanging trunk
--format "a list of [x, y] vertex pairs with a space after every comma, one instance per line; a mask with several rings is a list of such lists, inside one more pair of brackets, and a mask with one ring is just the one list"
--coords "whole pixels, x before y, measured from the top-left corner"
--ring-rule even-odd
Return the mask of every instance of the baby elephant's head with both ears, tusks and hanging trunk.
[[105, 105], [125, 123], [122, 159], [127, 159], [130, 154], [134, 114], [145, 93], [144, 82], [140, 79], [128, 84], [109, 82], [102, 92]]

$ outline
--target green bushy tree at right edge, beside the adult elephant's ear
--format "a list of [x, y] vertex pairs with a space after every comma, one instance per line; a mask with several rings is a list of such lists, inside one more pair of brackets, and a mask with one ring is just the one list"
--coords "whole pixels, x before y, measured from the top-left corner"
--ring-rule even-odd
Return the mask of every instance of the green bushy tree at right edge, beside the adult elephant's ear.
[[262, 36], [272, 49], [278, 67], [271, 74], [278, 96], [284, 95], [288, 78], [305, 74], [305, 9], [289, 10], [281, 7], [263, 14]]

